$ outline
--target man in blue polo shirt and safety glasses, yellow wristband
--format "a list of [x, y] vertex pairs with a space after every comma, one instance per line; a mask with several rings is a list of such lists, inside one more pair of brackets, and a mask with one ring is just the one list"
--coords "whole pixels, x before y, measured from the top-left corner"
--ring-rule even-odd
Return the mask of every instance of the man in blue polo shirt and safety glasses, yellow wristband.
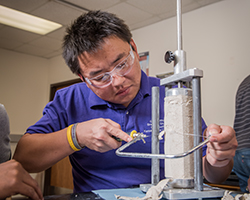
[[[63, 56], [83, 83], [57, 92], [45, 107], [44, 116], [20, 140], [14, 157], [28, 171], [37, 172], [69, 156], [74, 192], [149, 183], [150, 159], [115, 155], [122, 142], [114, 137], [129, 142], [132, 138], [127, 133], [133, 130], [151, 135], [151, 88], [160, 85], [159, 79], [141, 71], [127, 25], [106, 12], [82, 15], [67, 30]], [[162, 121], [163, 87], [160, 93]], [[204, 176], [221, 182], [233, 166], [235, 133], [231, 127], [218, 125], [209, 126], [204, 134], [208, 132], [213, 136], [203, 157]], [[149, 153], [150, 137], [145, 142], [137, 142], [128, 150]]]

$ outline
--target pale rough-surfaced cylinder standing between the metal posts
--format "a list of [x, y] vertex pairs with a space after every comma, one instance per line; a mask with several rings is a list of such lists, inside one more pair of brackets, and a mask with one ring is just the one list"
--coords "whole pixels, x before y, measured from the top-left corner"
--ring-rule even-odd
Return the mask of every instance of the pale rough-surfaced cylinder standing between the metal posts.
[[[183, 153], [193, 147], [192, 90], [172, 88], [165, 97], [165, 154]], [[165, 159], [165, 177], [194, 179], [193, 154], [184, 158]]]

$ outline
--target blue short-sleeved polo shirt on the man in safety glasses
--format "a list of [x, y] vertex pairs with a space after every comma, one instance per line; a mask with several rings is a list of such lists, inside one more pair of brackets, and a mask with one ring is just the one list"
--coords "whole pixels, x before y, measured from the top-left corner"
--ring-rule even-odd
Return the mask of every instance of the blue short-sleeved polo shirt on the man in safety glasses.
[[[151, 88], [160, 80], [142, 72], [141, 88], [129, 104], [109, 103], [96, 96], [85, 83], [78, 83], [56, 92], [46, 105], [43, 117], [27, 129], [27, 133], [50, 133], [77, 122], [95, 118], [109, 118], [121, 125], [125, 132], [136, 130], [151, 136]], [[160, 87], [160, 131], [164, 129], [165, 88]], [[202, 120], [202, 131], [206, 128]], [[79, 134], [79, 133], [78, 133]], [[151, 137], [131, 145], [126, 151], [151, 152]], [[160, 141], [160, 153], [164, 140]], [[205, 149], [203, 155], [205, 154]], [[69, 156], [72, 164], [74, 192], [98, 189], [131, 188], [151, 182], [151, 159], [119, 157], [115, 150], [99, 153], [85, 147]], [[160, 160], [160, 177], [164, 178], [164, 161]]]

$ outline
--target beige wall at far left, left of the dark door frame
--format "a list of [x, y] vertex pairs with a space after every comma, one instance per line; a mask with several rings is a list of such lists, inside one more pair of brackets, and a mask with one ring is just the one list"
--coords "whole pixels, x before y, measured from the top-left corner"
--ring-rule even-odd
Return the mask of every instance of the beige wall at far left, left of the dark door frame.
[[46, 59], [0, 49], [0, 102], [12, 134], [23, 134], [42, 116], [48, 102], [48, 64]]

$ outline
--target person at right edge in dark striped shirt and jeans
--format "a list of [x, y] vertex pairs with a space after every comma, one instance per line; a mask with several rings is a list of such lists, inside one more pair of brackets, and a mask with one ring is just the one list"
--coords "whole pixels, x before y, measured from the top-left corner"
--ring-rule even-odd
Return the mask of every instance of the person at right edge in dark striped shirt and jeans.
[[239, 178], [242, 192], [249, 192], [250, 184], [250, 75], [239, 85], [235, 98], [234, 129], [238, 147], [233, 170]]

